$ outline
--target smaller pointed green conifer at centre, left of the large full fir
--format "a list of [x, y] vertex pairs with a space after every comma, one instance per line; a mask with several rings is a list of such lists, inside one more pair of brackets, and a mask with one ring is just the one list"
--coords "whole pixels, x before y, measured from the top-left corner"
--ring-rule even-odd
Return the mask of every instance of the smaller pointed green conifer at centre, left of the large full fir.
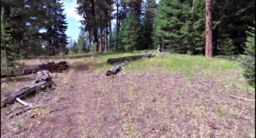
[[127, 52], [132, 52], [135, 49], [135, 46], [138, 44], [138, 33], [140, 27], [135, 21], [135, 18], [132, 16], [132, 12], [129, 12], [129, 15], [121, 28], [121, 47]]

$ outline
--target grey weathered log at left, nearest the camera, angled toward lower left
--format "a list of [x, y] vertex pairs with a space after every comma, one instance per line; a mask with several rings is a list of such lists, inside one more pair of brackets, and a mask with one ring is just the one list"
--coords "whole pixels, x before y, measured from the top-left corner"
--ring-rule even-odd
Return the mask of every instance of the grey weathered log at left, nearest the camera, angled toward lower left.
[[7, 97], [4, 102], [3, 106], [11, 105], [15, 102], [16, 98], [22, 99], [23, 97], [29, 96], [31, 94], [35, 94], [39, 89], [45, 89], [47, 87], [51, 87], [53, 85], [53, 81], [41, 81], [38, 84], [31, 84], [29, 86], [24, 86], [22, 89], [12, 92], [9, 97]]

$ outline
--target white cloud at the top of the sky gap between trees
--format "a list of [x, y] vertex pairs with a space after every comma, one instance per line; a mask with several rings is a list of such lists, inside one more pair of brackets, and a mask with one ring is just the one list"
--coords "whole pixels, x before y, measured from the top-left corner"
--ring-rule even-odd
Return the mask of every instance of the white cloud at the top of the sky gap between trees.
[[[71, 17], [77, 21], [79, 20], [83, 20], [83, 17], [80, 17], [80, 15], [78, 15], [75, 12], [75, 7], [78, 7], [78, 5], [76, 4], [76, 0], [65, 0], [64, 1], [64, 14], [67, 14], [67, 17]], [[78, 23], [80, 25], [80, 23]]]

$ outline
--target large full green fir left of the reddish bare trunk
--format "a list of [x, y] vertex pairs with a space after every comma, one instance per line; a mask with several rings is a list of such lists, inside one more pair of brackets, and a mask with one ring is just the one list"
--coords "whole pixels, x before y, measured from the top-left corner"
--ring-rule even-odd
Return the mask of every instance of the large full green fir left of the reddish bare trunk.
[[189, 7], [178, 0], [162, 0], [157, 9], [154, 31], [156, 35], [154, 40], [157, 42], [154, 44], [159, 44], [162, 48], [165, 46], [173, 52], [186, 54], [185, 36], [181, 33], [181, 28], [189, 18]]

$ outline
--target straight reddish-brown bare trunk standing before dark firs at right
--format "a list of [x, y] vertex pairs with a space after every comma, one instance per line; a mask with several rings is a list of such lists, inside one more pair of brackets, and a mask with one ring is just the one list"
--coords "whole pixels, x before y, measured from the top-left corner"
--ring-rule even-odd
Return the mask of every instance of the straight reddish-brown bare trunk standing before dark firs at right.
[[206, 0], [206, 58], [213, 56], [212, 48], [212, 1]]

